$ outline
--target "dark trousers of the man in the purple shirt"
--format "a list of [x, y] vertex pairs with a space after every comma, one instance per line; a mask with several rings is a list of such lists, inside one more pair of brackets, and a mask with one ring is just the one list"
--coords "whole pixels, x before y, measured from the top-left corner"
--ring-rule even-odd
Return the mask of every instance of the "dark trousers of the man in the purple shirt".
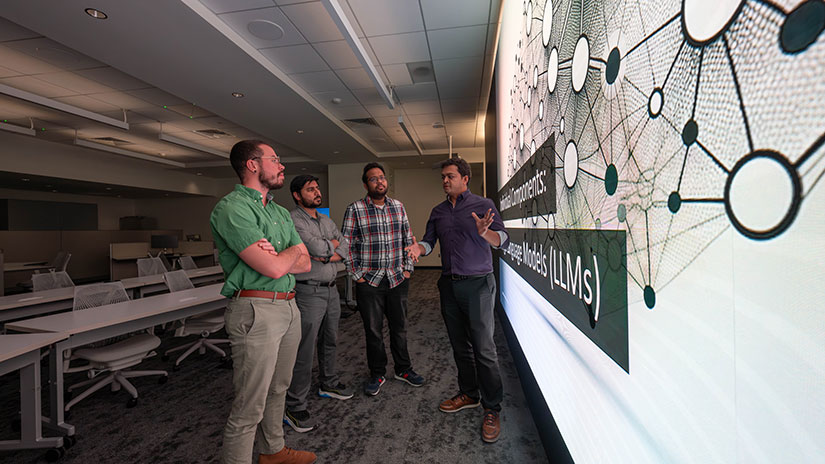
[[493, 274], [452, 280], [438, 279], [441, 315], [453, 346], [461, 393], [478, 398], [485, 409], [501, 410], [503, 389], [495, 329], [496, 280]]

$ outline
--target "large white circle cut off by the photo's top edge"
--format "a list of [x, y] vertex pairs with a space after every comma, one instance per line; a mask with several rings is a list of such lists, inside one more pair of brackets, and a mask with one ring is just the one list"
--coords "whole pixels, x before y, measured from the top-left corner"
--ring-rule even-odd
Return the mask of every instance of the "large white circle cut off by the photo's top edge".
[[704, 45], [727, 29], [745, 0], [684, 0], [682, 21], [685, 34]]

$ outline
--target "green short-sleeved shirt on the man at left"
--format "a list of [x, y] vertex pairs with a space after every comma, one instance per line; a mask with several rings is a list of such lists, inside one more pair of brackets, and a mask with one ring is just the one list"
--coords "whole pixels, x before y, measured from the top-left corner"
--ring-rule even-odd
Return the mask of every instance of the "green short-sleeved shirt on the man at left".
[[221, 295], [232, 297], [237, 290], [288, 292], [295, 287], [292, 274], [272, 279], [249, 267], [238, 256], [262, 238], [269, 240], [278, 252], [302, 243], [289, 211], [271, 197], [266, 206], [262, 200], [261, 192], [235, 185], [235, 190], [221, 198], [212, 210], [209, 224], [225, 280]]

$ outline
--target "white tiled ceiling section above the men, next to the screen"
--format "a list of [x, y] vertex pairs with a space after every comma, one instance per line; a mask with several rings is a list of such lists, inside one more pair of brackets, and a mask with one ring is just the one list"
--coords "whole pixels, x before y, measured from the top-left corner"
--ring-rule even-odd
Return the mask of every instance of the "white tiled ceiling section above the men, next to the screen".
[[[400, 105], [389, 109], [319, 0], [201, 0], [320, 105], [379, 153], [483, 146], [499, 0], [340, 0]], [[414, 83], [410, 63], [432, 63]], [[486, 74], [486, 75], [485, 75]], [[485, 81], [486, 79], [486, 81]], [[434, 127], [435, 125], [435, 127]], [[389, 153], [387, 153], [389, 154]]]

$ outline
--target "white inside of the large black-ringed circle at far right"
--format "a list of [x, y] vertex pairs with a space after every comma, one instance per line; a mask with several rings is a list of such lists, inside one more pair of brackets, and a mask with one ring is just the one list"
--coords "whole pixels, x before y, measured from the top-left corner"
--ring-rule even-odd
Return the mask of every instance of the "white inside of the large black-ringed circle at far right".
[[736, 219], [755, 232], [779, 224], [793, 202], [793, 181], [772, 158], [753, 158], [736, 172], [730, 185], [730, 206]]

